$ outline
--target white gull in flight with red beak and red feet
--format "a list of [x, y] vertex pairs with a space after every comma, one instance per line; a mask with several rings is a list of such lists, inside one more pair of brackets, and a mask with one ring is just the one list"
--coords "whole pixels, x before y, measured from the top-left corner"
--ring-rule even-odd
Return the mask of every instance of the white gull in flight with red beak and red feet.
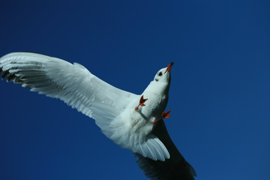
[[160, 69], [141, 95], [117, 89], [79, 63], [30, 52], [0, 58], [2, 79], [30, 91], [60, 99], [95, 119], [102, 133], [132, 151], [149, 179], [194, 180], [193, 167], [171, 140], [163, 119], [171, 83], [171, 67]]

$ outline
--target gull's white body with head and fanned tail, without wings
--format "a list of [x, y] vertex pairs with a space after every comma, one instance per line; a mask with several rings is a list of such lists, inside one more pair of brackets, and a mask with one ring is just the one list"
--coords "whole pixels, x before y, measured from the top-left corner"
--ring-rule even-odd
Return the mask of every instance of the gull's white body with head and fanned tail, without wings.
[[[117, 110], [97, 102], [93, 102], [90, 107], [96, 124], [114, 143], [144, 157], [161, 161], [170, 158], [170, 154], [163, 143], [151, 133], [157, 124], [153, 121], [161, 117], [168, 102], [170, 72], [166, 74], [166, 70], [167, 68], [163, 68], [159, 71], [163, 76], [168, 76], [165, 80], [155, 77], [144, 92], [131, 99], [124, 109]], [[147, 99], [144, 102], [145, 106], [139, 106], [134, 110], [141, 96]], [[112, 112], [108, 114], [108, 111]]]

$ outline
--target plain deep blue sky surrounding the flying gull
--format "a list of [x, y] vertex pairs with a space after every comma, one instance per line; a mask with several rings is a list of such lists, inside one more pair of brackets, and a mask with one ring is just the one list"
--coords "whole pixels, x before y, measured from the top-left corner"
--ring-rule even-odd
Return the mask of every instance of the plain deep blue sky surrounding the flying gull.
[[[0, 56], [77, 62], [141, 94], [170, 62], [168, 132], [196, 180], [270, 179], [269, 1], [5, 1]], [[58, 99], [0, 81], [1, 179], [147, 179]]]

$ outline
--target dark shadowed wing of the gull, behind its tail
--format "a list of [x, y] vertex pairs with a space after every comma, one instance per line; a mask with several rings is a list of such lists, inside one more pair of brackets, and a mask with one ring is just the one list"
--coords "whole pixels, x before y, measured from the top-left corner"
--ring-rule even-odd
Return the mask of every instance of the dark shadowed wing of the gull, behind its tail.
[[154, 161], [150, 158], [143, 157], [139, 153], [134, 153], [135, 158], [137, 158], [136, 163], [143, 171], [143, 174], [150, 180], [194, 180], [193, 176], [197, 176], [195, 170], [177, 150], [163, 120], [158, 122], [153, 134], [165, 145], [170, 153], [170, 159]]

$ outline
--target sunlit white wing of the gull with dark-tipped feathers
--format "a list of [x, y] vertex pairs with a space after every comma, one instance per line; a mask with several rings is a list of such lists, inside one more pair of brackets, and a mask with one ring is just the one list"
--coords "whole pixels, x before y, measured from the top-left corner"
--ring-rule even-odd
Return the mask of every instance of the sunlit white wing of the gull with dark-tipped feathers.
[[59, 98], [92, 117], [91, 101], [124, 109], [136, 94], [117, 89], [91, 74], [84, 66], [38, 53], [15, 52], [0, 58], [2, 79], [31, 91]]

